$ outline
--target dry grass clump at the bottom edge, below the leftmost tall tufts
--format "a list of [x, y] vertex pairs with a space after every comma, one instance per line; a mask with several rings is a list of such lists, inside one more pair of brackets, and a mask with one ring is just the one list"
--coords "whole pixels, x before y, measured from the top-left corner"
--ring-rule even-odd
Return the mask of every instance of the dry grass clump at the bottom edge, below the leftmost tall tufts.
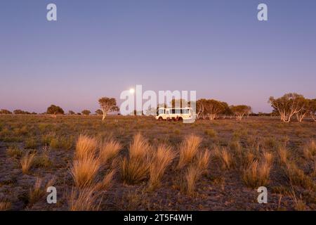
[[68, 196], [68, 206], [70, 211], [98, 211], [101, 200], [95, 186], [72, 188]]

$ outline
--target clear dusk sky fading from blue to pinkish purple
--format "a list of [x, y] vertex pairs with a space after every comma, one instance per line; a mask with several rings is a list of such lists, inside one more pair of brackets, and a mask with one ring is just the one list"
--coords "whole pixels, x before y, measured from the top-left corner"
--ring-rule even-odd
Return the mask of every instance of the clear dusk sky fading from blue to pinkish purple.
[[315, 0], [3, 0], [0, 108], [94, 112], [141, 84], [268, 113], [270, 96], [316, 98], [315, 11]]

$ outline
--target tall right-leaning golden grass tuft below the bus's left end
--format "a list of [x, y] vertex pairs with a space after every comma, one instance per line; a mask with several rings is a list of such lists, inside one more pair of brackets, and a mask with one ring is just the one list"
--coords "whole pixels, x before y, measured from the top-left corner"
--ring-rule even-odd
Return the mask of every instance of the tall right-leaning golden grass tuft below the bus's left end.
[[157, 186], [159, 186], [166, 168], [171, 164], [175, 156], [176, 155], [175, 153], [173, 153], [173, 150], [170, 146], [158, 146], [157, 151], [154, 153], [154, 157], [152, 158], [152, 163], [150, 165], [150, 190], [154, 190], [154, 188], [157, 188]]

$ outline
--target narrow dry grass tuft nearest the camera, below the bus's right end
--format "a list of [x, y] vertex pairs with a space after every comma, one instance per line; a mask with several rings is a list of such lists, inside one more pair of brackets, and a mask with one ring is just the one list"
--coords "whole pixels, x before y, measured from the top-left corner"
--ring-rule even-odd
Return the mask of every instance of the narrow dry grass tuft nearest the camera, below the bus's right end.
[[202, 171], [199, 167], [190, 165], [185, 172], [185, 184], [182, 189], [185, 190], [187, 195], [194, 195], [195, 193], [195, 186], [197, 181], [199, 180], [200, 176], [202, 175]]

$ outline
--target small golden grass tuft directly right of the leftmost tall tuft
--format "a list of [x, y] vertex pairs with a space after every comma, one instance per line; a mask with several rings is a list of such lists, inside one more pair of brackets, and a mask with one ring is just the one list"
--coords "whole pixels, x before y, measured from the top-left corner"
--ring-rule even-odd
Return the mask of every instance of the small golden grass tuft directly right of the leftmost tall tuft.
[[102, 146], [100, 146], [100, 160], [104, 164], [113, 160], [118, 154], [119, 150], [121, 150], [121, 143], [115, 141], [113, 139], [108, 139], [105, 141]]

